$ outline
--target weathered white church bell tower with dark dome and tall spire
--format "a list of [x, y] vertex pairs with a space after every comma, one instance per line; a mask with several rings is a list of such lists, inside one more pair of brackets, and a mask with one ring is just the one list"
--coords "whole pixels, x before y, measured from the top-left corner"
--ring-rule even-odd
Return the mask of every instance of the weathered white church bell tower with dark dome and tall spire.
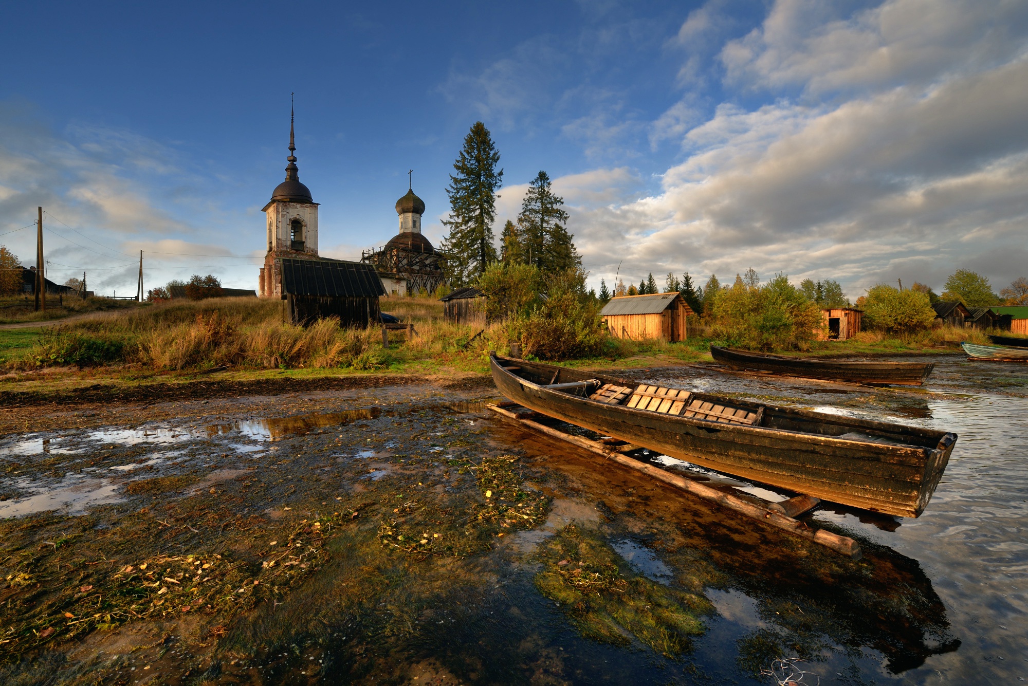
[[282, 276], [274, 267], [276, 258], [318, 259], [318, 203], [310, 197], [307, 187], [300, 183], [293, 154], [296, 151], [293, 118], [290, 108], [286, 180], [276, 187], [263, 209], [267, 217], [267, 255], [260, 270], [259, 295], [262, 298], [282, 297]]

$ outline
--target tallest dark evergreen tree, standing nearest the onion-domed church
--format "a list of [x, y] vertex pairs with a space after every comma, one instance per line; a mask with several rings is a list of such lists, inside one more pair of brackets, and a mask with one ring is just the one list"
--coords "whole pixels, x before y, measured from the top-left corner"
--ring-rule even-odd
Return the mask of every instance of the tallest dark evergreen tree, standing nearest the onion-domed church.
[[449, 235], [443, 241], [452, 285], [477, 279], [491, 262], [497, 261], [492, 244], [492, 221], [497, 216], [497, 188], [504, 170], [497, 169], [500, 152], [489, 130], [476, 121], [464, 139], [464, 148], [453, 162], [446, 195], [450, 200], [449, 218], [443, 224]]

